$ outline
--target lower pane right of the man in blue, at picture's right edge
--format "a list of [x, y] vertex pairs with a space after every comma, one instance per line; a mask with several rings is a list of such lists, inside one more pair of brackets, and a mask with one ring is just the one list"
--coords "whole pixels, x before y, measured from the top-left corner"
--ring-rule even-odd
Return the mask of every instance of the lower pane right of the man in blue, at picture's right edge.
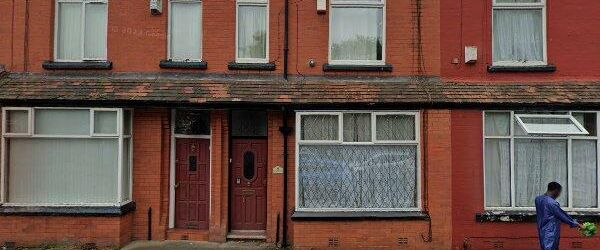
[[595, 140], [572, 142], [573, 206], [576, 208], [598, 207], [598, 172]]

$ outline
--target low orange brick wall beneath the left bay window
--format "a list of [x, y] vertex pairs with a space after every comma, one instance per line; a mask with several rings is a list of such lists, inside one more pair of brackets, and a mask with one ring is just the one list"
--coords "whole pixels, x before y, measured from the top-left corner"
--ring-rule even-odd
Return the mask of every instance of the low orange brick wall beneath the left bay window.
[[124, 217], [46, 217], [0, 216], [0, 244], [18, 246], [50, 243], [123, 246], [131, 239], [132, 216]]

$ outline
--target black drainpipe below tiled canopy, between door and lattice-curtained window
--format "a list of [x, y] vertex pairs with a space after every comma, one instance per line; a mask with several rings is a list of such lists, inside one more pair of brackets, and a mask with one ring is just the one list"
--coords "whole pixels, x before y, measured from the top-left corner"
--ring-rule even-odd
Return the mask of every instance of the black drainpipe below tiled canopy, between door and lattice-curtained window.
[[[287, 1], [286, 1], [287, 2]], [[287, 246], [287, 220], [288, 220], [288, 136], [292, 133], [292, 128], [288, 126], [288, 110], [284, 106], [281, 108], [283, 113], [283, 126], [279, 128], [283, 135], [283, 221], [282, 221], [282, 234], [281, 246]]]

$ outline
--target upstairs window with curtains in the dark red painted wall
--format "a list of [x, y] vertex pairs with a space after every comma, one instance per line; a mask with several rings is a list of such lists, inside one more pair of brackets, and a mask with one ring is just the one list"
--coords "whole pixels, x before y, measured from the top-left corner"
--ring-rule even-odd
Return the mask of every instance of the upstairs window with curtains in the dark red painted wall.
[[545, 65], [546, 0], [494, 0], [494, 65]]

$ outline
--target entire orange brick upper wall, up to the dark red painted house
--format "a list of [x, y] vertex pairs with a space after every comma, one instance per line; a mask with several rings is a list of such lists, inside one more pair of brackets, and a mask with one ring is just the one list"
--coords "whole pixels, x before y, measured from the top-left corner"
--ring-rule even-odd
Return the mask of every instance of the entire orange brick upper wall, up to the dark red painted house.
[[[54, 1], [31, 2], [28, 35], [25, 34], [26, 1], [0, 3], [0, 47], [6, 48], [0, 50], [0, 64], [6, 64], [10, 71], [43, 72], [42, 63], [53, 59]], [[167, 56], [167, 3], [164, 1], [162, 15], [152, 16], [148, 1], [109, 1], [108, 59], [114, 63], [114, 72], [167, 71], [158, 66]], [[329, 12], [317, 14], [315, 1], [290, 3], [290, 73], [324, 75], [322, 65], [328, 61]], [[373, 75], [439, 75], [439, 1], [388, 0], [386, 4], [386, 62], [394, 65], [394, 71]], [[277, 70], [263, 72], [265, 74], [283, 71], [283, 8], [284, 1], [270, 1], [269, 59], [277, 64]], [[419, 13], [421, 27], [417, 26]], [[227, 69], [227, 63], [235, 60], [235, 1], [203, 1], [203, 22], [206, 72], [238, 73]], [[422, 67], [419, 51], [423, 56]], [[309, 59], [315, 59], [317, 67], [310, 68]]]

